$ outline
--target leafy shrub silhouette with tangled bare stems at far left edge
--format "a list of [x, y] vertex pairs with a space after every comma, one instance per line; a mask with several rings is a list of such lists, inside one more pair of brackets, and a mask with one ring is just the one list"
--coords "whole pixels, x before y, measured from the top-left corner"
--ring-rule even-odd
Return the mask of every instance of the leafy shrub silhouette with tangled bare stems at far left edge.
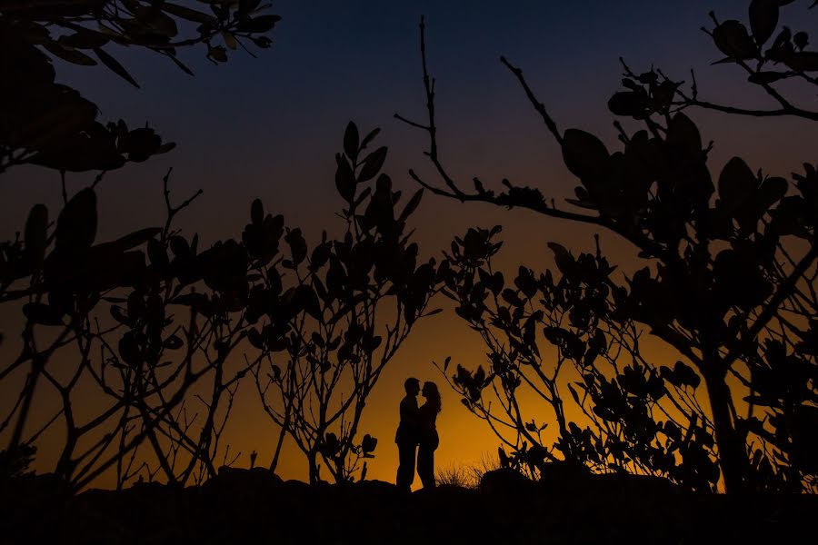
[[[4, 263], [13, 272], [2, 285], [4, 302], [27, 302], [20, 354], [0, 379], [29, 371], [0, 431], [16, 419], [8, 448], [13, 453], [62, 422], [65, 439], [54, 472], [77, 489], [111, 468], [118, 487], [143, 470], [149, 479], [162, 471], [168, 481], [181, 483], [195, 471], [199, 478], [214, 474], [218, 438], [242, 376], [224, 376], [224, 362], [243, 338], [241, 321], [229, 321], [233, 294], [222, 286], [214, 288], [203, 312], [190, 304], [198, 301], [191, 286], [218, 278], [212, 267], [222, 256], [218, 245], [198, 253], [197, 237], [188, 243], [172, 230], [175, 215], [191, 200], [172, 206], [167, 183], [166, 176], [165, 228], [95, 244], [95, 190], [86, 188], [65, 204], [55, 228], [45, 206], [35, 205], [25, 239], [4, 248]], [[182, 293], [185, 288], [191, 293]], [[189, 307], [185, 325], [177, 323], [178, 305]], [[212, 390], [195, 391], [208, 375], [214, 375]], [[32, 407], [44, 402], [38, 381], [46, 381], [60, 403], [42, 428], [27, 434]], [[89, 388], [100, 407], [80, 421], [75, 402]], [[205, 409], [197, 436], [187, 409], [194, 394]], [[226, 409], [220, 407], [225, 397]], [[155, 469], [148, 465], [151, 457]]]

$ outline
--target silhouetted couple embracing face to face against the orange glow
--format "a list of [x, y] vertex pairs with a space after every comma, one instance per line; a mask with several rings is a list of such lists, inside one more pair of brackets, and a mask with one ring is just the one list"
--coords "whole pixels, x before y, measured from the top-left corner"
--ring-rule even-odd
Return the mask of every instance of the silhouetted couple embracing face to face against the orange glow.
[[[394, 435], [399, 457], [395, 484], [400, 490], [411, 490], [417, 460], [417, 474], [424, 488], [434, 488], [434, 450], [440, 442], [434, 421], [442, 406], [440, 392], [434, 382], [424, 382], [421, 391], [420, 381], [414, 378], [406, 379], [404, 389], [406, 395], [401, 400], [401, 423]], [[417, 406], [418, 392], [426, 400], [420, 407]]]

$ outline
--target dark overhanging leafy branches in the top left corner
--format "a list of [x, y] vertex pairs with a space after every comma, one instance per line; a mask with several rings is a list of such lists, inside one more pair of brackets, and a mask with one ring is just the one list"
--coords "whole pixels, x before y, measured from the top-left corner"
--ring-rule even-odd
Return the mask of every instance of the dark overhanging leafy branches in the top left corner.
[[[96, 121], [94, 103], [74, 88], [55, 83], [51, 60], [83, 66], [99, 61], [138, 87], [110, 52], [112, 45], [145, 48], [193, 74], [176, 58], [178, 48], [205, 45], [208, 59], [224, 63], [225, 45], [247, 50], [246, 41], [262, 48], [272, 44], [265, 34], [280, 17], [262, 14], [268, 5], [260, 0], [198, 0], [195, 4], [208, 13], [171, 2], [139, 0], [0, 5], [0, 47], [5, 52], [0, 59], [0, 173], [26, 163], [61, 172], [109, 171], [171, 150], [175, 144], [163, 143], [147, 126], [129, 129], [122, 120]], [[195, 24], [195, 29], [190, 28]], [[65, 192], [64, 197], [67, 200]]]

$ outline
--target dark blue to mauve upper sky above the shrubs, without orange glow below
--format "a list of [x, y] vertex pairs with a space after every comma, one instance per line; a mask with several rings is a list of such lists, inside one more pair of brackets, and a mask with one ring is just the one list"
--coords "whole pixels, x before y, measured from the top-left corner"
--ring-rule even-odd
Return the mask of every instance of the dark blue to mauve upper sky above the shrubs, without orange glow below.
[[[392, 117], [400, 112], [423, 119], [417, 28], [422, 14], [438, 79], [443, 149], [454, 172], [465, 180], [477, 174], [488, 180], [508, 176], [562, 195], [570, 193], [573, 181], [565, 179], [558, 150], [499, 55], [524, 68], [562, 127], [594, 129], [613, 144], [605, 102], [618, 85], [619, 55], [635, 69], [656, 63], [678, 78], [695, 67], [708, 97], [730, 100], [735, 89], [746, 94], [734, 66], [709, 66], [719, 55], [699, 30], [709, 22], [709, 9], [723, 18], [745, 18], [744, 5], [734, 0], [276, 2], [272, 11], [283, 20], [274, 30], [273, 48], [258, 52], [257, 59], [237, 51], [218, 66], [205, 60], [201, 47], [181, 51], [195, 77], [158, 55], [121, 48], [111, 51], [142, 89], [102, 67], [57, 64], [63, 81], [99, 104], [102, 119], [147, 121], [179, 144], [173, 154], [109, 174], [100, 191], [103, 214], [110, 214], [104, 221], [126, 229], [155, 218], [162, 212], [161, 175], [174, 166], [180, 192], [205, 189], [198, 213], [211, 216], [211, 222], [196, 228], [220, 237], [237, 232], [254, 196], [298, 223], [331, 218], [333, 155], [350, 119], [362, 130], [384, 128], [381, 140], [393, 149], [387, 170], [396, 183], [406, 181], [408, 166], [424, 164], [423, 135]], [[801, 13], [804, 7], [791, 11]], [[722, 152], [729, 156], [733, 127], [735, 135], [746, 133], [743, 121], [716, 116], [713, 122], [709, 115], [699, 120], [717, 136], [716, 158]], [[0, 187], [5, 203], [0, 229], [8, 234], [22, 226], [32, 203], [54, 202], [58, 183], [55, 174], [35, 169], [18, 169], [6, 178], [11, 179]], [[72, 178], [76, 187], [88, 179]], [[549, 191], [550, 185], [556, 190]]]

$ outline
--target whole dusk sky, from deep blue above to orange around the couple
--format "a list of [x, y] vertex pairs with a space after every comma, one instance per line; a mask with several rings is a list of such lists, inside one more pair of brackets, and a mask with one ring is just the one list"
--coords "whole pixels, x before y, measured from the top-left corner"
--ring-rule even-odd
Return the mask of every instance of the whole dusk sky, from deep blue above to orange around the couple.
[[[785, 13], [797, 30], [816, 30], [818, 18], [803, 16], [807, 3]], [[251, 58], [242, 51], [214, 66], [203, 48], [180, 52], [195, 71], [190, 77], [165, 59], [140, 51], [111, 50], [142, 84], [135, 89], [104, 68], [57, 62], [58, 80], [75, 85], [99, 105], [103, 120], [149, 122], [177, 149], [148, 163], [109, 173], [100, 186], [100, 231], [115, 238], [163, 219], [161, 178], [174, 167], [172, 189], [179, 197], [205, 190], [179, 225], [201, 233], [205, 243], [240, 236], [254, 197], [265, 208], [284, 213], [308, 237], [342, 227], [333, 212], [334, 153], [344, 126], [354, 120], [362, 131], [383, 128], [381, 144], [390, 146], [385, 172], [399, 187], [412, 188], [413, 167], [429, 173], [422, 151], [424, 134], [394, 120], [398, 112], [424, 121], [418, 22], [427, 18], [430, 70], [437, 78], [437, 109], [444, 163], [465, 182], [508, 177], [539, 187], [546, 196], [573, 196], [575, 181], [560, 160], [558, 147], [516, 84], [498, 62], [500, 54], [521, 66], [539, 98], [561, 128], [579, 127], [600, 134], [615, 148], [612, 117], [605, 106], [617, 90], [622, 55], [636, 71], [661, 66], [675, 79], [694, 68], [700, 94], [713, 102], [765, 104], [745, 84], [741, 70], [718, 60], [707, 35], [707, 12], [723, 19], [745, 19], [745, 2], [735, 0], [603, 2], [275, 2], [283, 20], [274, 30], [274, 46]], [[804, 26], [804, 25], [809, 26]], [[797, 93], [797, 91], [796, 91]], [[809, 95], [802, 95], [813, 101]], [[814, 103], [813, 103], [814, 104]], [[788, 175], [804, 160], [814, 161], [814, 127], [797, 120], [758, 122], [723, 114], [693, 112], [705, 141], [716, 142], [717, 172], [734, 154], [753, 169]], [[69, 176], [69, 190], [91, 175]], [[59, 179], [36, 168], [17, 168], [0, 183], [0, 234], [13, 238], [34, 203], [58, 208]], [[424, 255], [438, 255], [454, 234], [473, 224], [504, 224], [504, 263], [543, 267], [545, 243], [556, 241], [590, 249], [593, 232], [554, 220], [485, 205], [461, 205], [426, 195], [414, 215]], [[623, 259], [621, 243], [604, 238], [605, 248]], [[12, 328], [3, 330], [10, 333]], [[451, 313], [422, 323], [385, 372], [364, 415], [362, 430], [380, 439], [371, 478], [394, 480], [397, 451], [392, 442], [397, 403], [408, 374], [440, 381], [432, 359], [454, 355], [476, 366], [483, 360], [479, 338]], [[661, 354], [660, 354], [661, 355]], [[669, 357], [669, 356], [668, 356]], [[233, 449], [257, 450], [267, 463], [275, 430], [264, 420], [248, 384], [231, 431]], [[473, 463], [495, 452], [497, 441], [443, 388], [444, 411], [438, 421], [438, 467]], [[376, 409], [376, 410], [375, 410]], [[246, 463], [246, 460], [243, 461]], [[242, 464], [243, 462], [240, 462]], [[283, 462], [285, 477], [306, 478], [298, 457]]]

